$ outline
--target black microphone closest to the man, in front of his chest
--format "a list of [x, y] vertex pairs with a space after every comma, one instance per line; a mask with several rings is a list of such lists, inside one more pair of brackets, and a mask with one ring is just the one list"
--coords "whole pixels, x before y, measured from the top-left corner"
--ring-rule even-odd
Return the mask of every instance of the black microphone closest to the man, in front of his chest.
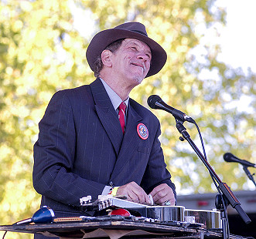
[[179, 109], [175, 109], [172, 106], [169, 106], [166, 103], [164, 103], [160, 98], [160, 96], [157, 96], [157, 95], [149, 96], [148, 106], [152, 109], [166, 110], [168, 113], [171, 113], [176, 120], [183, 120], [183, 121], [188, 121], [190, 123], [195, 123], [195, 120], [187, 116], [186, 113], [183, 113]]

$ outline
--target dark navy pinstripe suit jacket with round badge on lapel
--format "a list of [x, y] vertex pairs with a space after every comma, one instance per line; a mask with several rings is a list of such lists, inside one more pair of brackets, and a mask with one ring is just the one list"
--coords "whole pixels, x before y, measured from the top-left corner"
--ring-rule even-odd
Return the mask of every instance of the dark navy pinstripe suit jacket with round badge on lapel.
[[[100, 79], [57, 92], [39, 123], [34, 145], [33, 185], [42, 204], [73, 211], [80, 197], [97, 199], [106, 185], [135, 181], [146, 193], [160, 183], [175, 192], [160, 146], [159, 120], [129, 100], [125, 135]], [[137, 133], [148, 128], [148, 139]]]

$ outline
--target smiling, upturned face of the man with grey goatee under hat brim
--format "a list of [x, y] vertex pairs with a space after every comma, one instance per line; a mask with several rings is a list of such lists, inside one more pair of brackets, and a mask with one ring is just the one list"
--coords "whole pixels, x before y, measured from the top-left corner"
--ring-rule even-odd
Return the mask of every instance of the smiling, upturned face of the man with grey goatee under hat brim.
[[112, 70], [120, 80], [134, 87], [148, 74], [151, 59], [151, 50], [147, 44], [137, 39], [125, 39], [113, 53]]

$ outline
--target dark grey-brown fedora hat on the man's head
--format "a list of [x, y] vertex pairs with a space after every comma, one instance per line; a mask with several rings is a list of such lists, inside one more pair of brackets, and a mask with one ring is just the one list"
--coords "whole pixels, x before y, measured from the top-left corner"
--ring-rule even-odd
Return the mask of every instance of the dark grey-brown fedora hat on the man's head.
[[94, 62], [97, 57], [101, 56], [101, 52], [103, 52], [108, 45], [119, 39], [138, 39], [149, 46], [152, 53], [152, 60], [148, 74], [145, 77], [155, 75], [166, 64], [166, 51], [162, 49], [161, 45], [148, 37], [145, 25], [139, 22], [126, 22], [116, 26], [114, 29], [98, 32], [90, 41], [86, 57], [90, 69], [93, 72], [95, 67]]

